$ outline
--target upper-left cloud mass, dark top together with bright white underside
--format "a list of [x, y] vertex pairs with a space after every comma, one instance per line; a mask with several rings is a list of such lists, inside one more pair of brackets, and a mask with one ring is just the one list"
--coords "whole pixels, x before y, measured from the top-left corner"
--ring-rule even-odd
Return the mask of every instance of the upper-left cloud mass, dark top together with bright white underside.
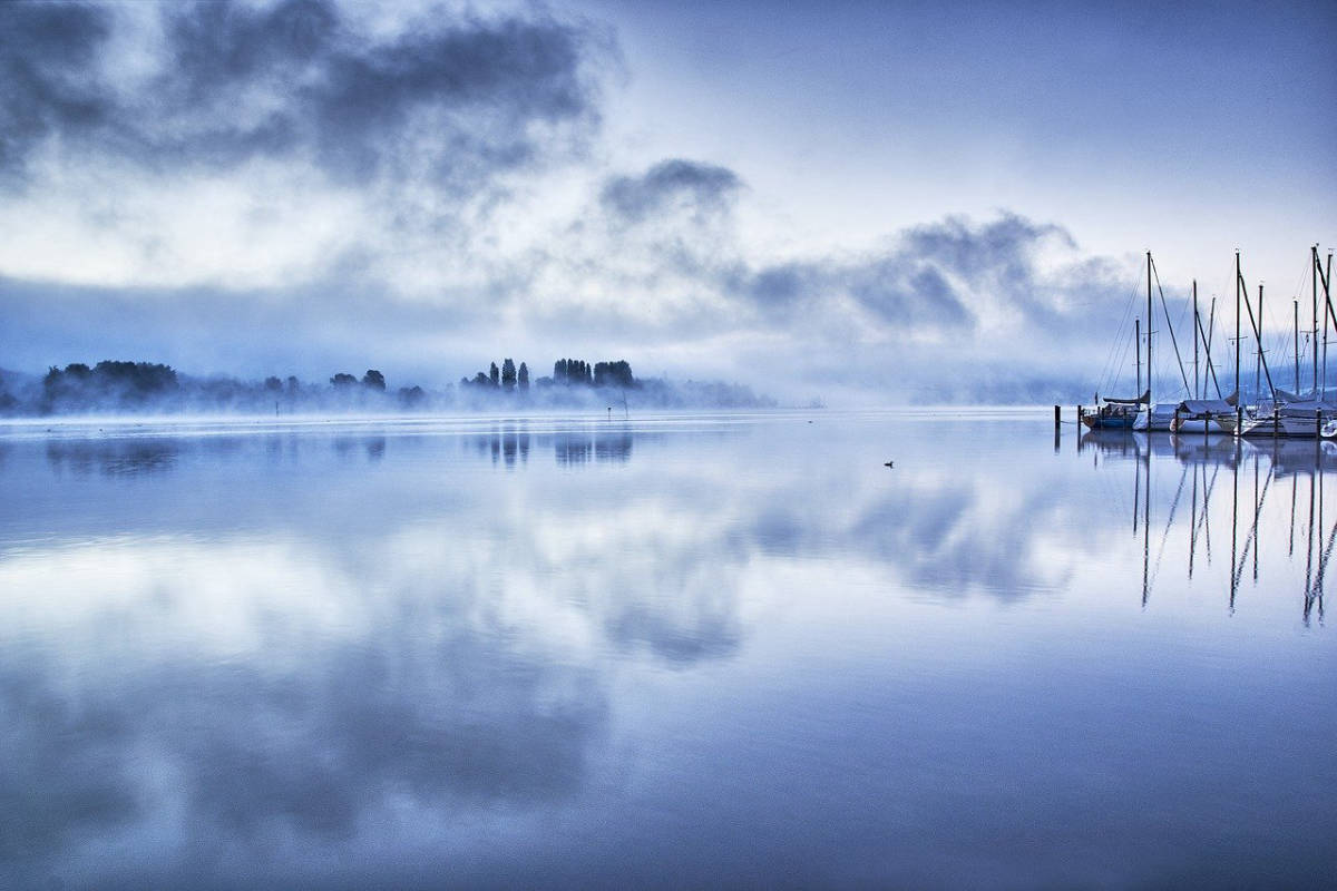
[[618, 67], [533, 8], [0, 16], [0, 274], [35, 282], [485, 297], [512, 285], [496, 216], [584, 158]]

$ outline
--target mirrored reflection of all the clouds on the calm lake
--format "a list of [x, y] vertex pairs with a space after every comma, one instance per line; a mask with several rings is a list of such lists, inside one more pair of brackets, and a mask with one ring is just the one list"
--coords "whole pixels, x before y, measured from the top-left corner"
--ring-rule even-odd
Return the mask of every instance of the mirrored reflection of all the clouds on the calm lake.
[[[1126, 458], [1147, 449], [1104, 443], [1116, 462], [1092, 476], [1084, 453], [1055, 469], [1000, 446], [1000, 474], [925, 438], [882, 473], [846, 464], [857, 438], [812, 437], [499, 422], [8, 442], [0, 489], [27, 508], [0, 542], [0, 875], [98, 884], [122, 850], [168, 882], [233, 855], [275, 879], [285, 858], [299, 875], [393, 850], [406, 823], [468, 850], [489, 820], [579, 810], [626, 783], [628, 677], [746, 661], [786, 602], [840, 616], [858, 577], [931, 601], [1071, 596], [1127, 538], [1091, 482], [1142, 480]], [[1222, 461], [1163, 445], [1158, 480]], [[1302, 449], [1243, 449], [1306, 473]], [[1306, 588], [1306, 618], [1321, 608]]]

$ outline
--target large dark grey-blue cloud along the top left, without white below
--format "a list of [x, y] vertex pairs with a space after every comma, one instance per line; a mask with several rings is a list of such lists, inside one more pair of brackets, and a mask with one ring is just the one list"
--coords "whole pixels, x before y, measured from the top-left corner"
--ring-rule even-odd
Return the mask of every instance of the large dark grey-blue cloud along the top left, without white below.
[[[341, 179], [389, 167], [476, 186], [596, 120], [598, 43], [543, 15], [436, 13], [380, 39], [329, 0], [155, 5], [160, 72], [104, 65], [134, 24], [91, 4], [4, 4], [0, 170], [47, 142], [150, 170], [312, 159]], [[550, 135], [551, 136], [551, 135]]]

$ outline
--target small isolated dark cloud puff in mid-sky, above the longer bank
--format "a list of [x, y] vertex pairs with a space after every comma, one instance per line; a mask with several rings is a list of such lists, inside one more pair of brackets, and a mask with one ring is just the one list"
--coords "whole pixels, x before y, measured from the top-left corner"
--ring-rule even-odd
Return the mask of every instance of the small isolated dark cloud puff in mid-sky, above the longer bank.
[[639, 223], [681, 207], [693, 214], [723, 210], [741, 188], [742, 180], [727, 167], [671, 158], [640, 176], [610, 179], [599, 200], [616, 218]]

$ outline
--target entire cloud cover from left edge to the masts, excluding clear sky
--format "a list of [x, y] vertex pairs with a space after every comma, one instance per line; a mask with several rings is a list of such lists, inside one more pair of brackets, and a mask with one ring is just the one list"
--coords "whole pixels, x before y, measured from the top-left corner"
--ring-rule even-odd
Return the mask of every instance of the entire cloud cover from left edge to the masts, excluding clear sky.
[[890, 397], [1019, 342], [1011, 374], [1051, 374], [1124, 305], [1114, 260], [1013, 211], [773, 246], [745, 171], [616, 163], [596, 142], [616, 41], [544, 9], [0, 17], [0, 349], [29, 371], [128, 357], [441, 385], [499, 350], [607, 351], [781, 397], [858, 366]]

